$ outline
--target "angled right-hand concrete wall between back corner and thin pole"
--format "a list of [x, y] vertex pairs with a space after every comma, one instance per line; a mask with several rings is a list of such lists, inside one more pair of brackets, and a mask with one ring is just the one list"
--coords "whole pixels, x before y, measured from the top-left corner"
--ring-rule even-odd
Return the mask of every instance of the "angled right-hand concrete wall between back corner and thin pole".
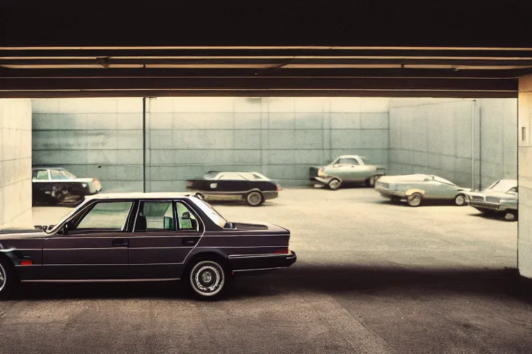
[[[472, 102], [464, 100], [390, 108], [390, 174], [436, 174], [471, 187], [471, 115]], [[478, 132], [478, 113], [475, 118]], [[479, 139], [475, 142], [478, 175]], [[478, 176], [475, 182], [478, 187]]]

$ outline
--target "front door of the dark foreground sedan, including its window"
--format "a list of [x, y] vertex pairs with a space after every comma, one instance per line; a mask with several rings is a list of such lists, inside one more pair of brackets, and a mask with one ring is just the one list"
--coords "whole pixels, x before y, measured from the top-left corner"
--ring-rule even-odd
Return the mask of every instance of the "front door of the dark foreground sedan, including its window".
[[[127, 279], [127, 220], [132, 201], [98, 201], [44, 240], [43, 276], [52, 280]], [[65, 230], [63, 228], [62, 230]]]

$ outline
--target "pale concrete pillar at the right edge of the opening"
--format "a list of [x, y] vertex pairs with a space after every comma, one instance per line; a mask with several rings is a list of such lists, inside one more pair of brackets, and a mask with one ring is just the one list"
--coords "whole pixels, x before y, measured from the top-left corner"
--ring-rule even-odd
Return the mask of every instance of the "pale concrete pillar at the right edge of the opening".
[[532, 75], [519, 79], [517, 106], [519, 184], [517, 266], [523, 277], [532, 278]]

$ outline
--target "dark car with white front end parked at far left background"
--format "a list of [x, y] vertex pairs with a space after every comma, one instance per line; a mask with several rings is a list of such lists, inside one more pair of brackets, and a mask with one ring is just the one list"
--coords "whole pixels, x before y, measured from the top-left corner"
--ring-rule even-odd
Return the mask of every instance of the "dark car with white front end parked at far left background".
[[62, 167], [35, 166], [31, 182], [33, 205], [80, 203], [102, 190], [98, 178], [78, 178]]

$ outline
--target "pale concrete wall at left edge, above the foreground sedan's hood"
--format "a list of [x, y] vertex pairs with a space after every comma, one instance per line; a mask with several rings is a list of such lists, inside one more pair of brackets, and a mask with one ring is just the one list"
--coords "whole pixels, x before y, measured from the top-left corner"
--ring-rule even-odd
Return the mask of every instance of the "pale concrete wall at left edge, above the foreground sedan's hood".
[[33, 228], [30, 100], [0, 100], [0, 142], [0, 228]]

